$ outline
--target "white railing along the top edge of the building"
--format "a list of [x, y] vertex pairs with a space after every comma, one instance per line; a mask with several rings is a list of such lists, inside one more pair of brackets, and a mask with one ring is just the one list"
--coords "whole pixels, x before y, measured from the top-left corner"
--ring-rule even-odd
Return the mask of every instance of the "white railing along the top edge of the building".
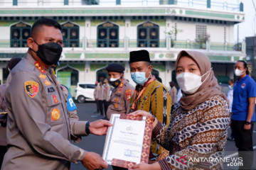
[[156, 6], [156, 5], [180, 5], [198, 8], [212, 8], [222, 11], [241, 11], [240, 2], [234, 0], [215, 0], [207, 4], [207, 0], [13, 0], [0, 1], [0, 6]]

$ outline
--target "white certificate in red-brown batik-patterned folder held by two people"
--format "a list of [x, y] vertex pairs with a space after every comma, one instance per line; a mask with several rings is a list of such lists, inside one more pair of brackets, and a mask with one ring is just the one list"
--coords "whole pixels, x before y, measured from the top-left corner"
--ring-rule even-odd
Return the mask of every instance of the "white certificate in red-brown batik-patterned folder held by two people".
[[110, 123], [102, 156], [107, 164], [131, 168], [148, 163], [153, 118], [112, 114]]

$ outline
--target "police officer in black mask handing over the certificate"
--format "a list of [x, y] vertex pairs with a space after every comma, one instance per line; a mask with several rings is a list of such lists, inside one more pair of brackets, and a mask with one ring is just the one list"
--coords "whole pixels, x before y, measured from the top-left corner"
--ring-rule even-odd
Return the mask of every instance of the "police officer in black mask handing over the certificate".
[[62, 52], [60, 24], [41, 18], [27, 39], [28, 52], [14, 67], [6, 82], [7, 144], [1, 169], [70, 169], [82, 162], [87, 169], [104, 169], [107, 164], [94, 152], [70, 143], [75, 135], [105, 135], [110, 123], [70, 121], [60, 84], [50, 67]]

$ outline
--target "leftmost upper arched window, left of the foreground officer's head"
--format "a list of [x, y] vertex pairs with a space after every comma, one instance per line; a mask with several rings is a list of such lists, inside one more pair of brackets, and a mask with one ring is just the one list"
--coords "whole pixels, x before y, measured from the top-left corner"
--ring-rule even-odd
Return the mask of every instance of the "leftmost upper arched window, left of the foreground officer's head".
[[11, 26], [11, 47], [28, 47], [27, 38], [30, 35], [31, 26], [19, 22]]

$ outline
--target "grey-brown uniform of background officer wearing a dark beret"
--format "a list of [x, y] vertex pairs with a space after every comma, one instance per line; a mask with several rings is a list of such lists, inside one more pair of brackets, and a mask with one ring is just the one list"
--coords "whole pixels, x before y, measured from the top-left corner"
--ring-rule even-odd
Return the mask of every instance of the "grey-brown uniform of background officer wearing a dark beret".
[[134, 93], [134, 86], [123, 79], [117, 88], [113, 89], [110, 96], [110, 106], [107, 108], [107, 119], [110, 120], [112, 113], [129, 113], [129, 100]]

